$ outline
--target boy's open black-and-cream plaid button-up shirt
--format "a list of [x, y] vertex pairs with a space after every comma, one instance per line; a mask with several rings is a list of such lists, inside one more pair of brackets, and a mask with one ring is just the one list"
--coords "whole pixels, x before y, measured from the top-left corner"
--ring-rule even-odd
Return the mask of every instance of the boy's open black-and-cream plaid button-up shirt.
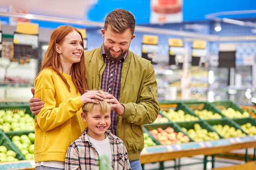
[[[76, 139], [67, 148], [65, 157], [65, 170], [100, 170], [99, 155], [92, 143], [90, 143], [88, 128], [85, 128], [81, 137]], [[113, 170], [130, 170], [128, 153], [122, 141], [111, 132], [105, 132], [112, 151], [112, 169]]]

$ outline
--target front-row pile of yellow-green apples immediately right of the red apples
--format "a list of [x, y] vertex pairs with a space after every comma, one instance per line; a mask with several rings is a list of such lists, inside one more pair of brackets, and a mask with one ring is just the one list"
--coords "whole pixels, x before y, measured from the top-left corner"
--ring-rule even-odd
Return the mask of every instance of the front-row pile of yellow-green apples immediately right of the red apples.
[[198, 123], [194, 124], [193, 128], [190, 128], [190, 129], [182, 127], [182, 130], [186, 132], [189, 135], [189, 137], [193, 139], [193, 141], [195, 142], [220, 139], [217, 132], [214, 132], [214, 131], [209, 132], [207, 129], [202, 128]]

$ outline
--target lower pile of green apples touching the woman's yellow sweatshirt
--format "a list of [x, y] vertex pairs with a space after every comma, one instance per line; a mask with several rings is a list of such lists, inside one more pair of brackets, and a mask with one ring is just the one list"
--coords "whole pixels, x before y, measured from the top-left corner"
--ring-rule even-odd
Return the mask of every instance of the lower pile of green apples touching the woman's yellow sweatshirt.
[[29, 132], [27, 135], [10, 136], [11, 141], [17, 146], [25, 159], [34, 159], [35, 133]]

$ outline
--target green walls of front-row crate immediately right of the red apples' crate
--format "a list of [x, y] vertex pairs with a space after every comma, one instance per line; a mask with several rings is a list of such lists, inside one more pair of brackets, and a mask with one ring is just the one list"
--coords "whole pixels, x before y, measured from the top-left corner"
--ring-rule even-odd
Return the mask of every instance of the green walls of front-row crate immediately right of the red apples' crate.
[[[177, 122], [177, 125], [180, 126], [180, 128], [186, 128], [186, 130], [194, 129], [194, 124], [199, 124], [202, 129], [206, 129], [208, 132], [216, 132], [216, 130], [214, 130], [214, 128], [210, 124], [208, 124], [206, 121], [200, 120], [197, 122]], [[216, 133], [218, 134], [218, 132]], [[220, 139], [223, 138], [219, 134], [218, 134], [218, 137]]]

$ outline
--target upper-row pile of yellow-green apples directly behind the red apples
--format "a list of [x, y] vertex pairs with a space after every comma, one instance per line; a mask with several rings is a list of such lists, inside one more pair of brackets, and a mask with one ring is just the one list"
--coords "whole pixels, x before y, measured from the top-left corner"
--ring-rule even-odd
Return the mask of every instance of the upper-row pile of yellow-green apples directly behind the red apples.
[[168, 111], [163, 111], [165, 117], [167, 117], [170, 121], [178, 122], [178, 121], [196, 121], [199, 120], [198, 117], [191, 115], [189, 113], [185, 113], [183, 110], [173, 110], [169, 109]]

